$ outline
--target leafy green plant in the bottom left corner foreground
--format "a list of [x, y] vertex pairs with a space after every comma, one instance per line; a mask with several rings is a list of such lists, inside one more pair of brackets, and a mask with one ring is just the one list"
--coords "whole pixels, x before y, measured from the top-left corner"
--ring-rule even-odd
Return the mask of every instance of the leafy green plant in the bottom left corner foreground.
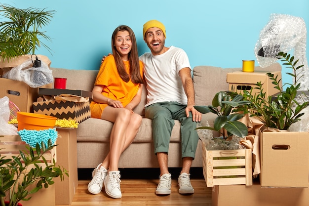
[[[41, 146], [37, 143], [36, 148], [26, 146], [27, 150], [19, 151], [16, 157], [0, 156], [0, 206], [17, 206], [21, 200], [28, 201], [43, 187], [54, 184], [54, 177], [62, 181], [64, 174], [68, 176], [65, 168], [56, 166], [54, 158], [52, 164], [48, 164], [43, 156], [55, 146], [49, 139], [47, 146], [43, 142]], [[40, 160], [44, 167], [38, 165]]]

